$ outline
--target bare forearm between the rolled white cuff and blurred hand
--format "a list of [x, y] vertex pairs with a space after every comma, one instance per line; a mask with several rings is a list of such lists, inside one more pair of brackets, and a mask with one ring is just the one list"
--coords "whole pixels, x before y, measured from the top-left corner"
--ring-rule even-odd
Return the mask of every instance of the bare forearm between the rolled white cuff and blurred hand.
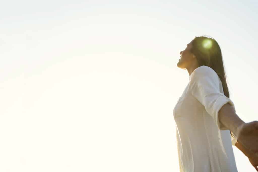
[[240, 127], [245, 124], [245, 122], [237, 116], [234, 108], [229, 103], [224, 104], [219, 110], [219, 121], [237, 137]]

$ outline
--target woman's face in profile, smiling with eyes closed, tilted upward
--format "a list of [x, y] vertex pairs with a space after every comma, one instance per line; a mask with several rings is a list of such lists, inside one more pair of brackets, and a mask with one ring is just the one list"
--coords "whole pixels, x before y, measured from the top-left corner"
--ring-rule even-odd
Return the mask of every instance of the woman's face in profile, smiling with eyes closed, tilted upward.
[[185, 50], [183, 51], [180, 51], [180, 59], [178, 61], [178, 64], [177, 66], [179, 68], [182, 68], [182, 69], [189, 69], [192, 67], [192, 65], [196, 65], [196, 57], [195, 55], [193, 55], [191, 53], [191, 48], [192, 48], [192, 41], [187, 44], [187, 47], [185, 48]]

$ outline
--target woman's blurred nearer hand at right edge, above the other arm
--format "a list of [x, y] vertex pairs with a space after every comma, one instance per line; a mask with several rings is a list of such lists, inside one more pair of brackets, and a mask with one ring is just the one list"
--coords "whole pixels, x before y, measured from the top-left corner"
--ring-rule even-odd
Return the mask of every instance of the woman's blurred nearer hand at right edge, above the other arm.
[[248, 150], [250, 155], [256, 155], [258, 153], [258, 121], [243, 124], [238, 133], [238, 141]]

